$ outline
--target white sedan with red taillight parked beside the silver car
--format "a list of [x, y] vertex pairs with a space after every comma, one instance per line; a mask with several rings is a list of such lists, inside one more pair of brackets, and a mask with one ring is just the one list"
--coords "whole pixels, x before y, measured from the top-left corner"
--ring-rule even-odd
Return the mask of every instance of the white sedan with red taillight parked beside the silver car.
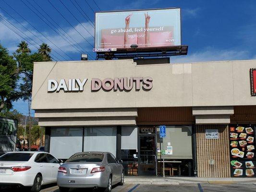
[[9, 152], [0, 156], [0, 186], [18, 185], [39, 192], [41, 185], [57, 182], [61, 165], [45, 152]]

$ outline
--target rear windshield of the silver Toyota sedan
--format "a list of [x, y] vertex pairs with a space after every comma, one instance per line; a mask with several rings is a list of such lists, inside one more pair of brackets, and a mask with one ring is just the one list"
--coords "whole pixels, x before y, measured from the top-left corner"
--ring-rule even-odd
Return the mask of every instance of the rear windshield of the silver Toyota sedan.
[[104, 158], [99, 153], [78, 153], [71, 156], [66, 162], [101, 162]]

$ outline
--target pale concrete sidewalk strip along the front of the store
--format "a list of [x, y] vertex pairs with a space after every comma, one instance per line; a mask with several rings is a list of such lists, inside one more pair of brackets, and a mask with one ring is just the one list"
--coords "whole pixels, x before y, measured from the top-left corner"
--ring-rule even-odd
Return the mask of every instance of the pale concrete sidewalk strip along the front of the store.
[[256, 183], [256, 178], [198, 178], [198, 177], [156, 177], [156, 176], [126, 176], [126, 184], [157, 184], [157, 185], [179, 185], [179, 184], [235, 184]]

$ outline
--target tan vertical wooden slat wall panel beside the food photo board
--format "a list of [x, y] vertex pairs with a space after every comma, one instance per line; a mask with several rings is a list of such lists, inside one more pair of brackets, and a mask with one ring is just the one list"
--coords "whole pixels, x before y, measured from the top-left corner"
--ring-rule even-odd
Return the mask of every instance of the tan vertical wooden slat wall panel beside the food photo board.
[[[218, 129], [219, 139], [206, 139], [206, 129]], [[229, 129], [227, 125], [196, 125], [198, 177], [230, 177]], [[214, 159], [215, 164], [209, 165]]]

